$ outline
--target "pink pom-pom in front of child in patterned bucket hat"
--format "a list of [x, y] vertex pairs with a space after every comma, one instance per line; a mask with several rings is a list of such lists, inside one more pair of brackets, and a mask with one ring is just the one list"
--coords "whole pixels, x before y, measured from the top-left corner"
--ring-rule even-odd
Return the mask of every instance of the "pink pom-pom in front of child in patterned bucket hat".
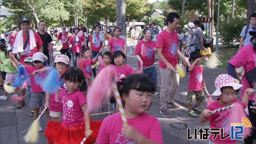
[[[226, 133], [230, 132], [231, 123], [239, 123], [242, 124], [242, 118], [247, 118], [246, 113], [244, 112], [244, 107], [239, 104], [235, 103], [235, 106], [231, 109], [231, 114], [229, 118], [229, 122], [227, 124], [227, 127], [224, 129]], [[247, 138], [251, 134], [252, 128], [251, 127], [244, 127], [244, 133], [242, 136], [244, 138]]]

